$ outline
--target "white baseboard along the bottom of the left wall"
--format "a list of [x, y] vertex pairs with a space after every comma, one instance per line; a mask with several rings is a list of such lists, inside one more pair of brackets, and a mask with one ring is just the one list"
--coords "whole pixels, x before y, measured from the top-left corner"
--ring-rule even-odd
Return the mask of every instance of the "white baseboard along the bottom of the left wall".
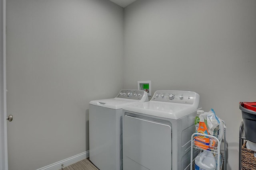
[[86, 152], [82, 152], [80, 154], [77, 154], [75, 156], [71, 156], [70, 158], [66, 158], [64, 160], [61, 160], [59, 162], [56, 162], [54, 164], [50, 164], [48, 166], [44, 166], [43, 168], [37, 169], [37, 170], [60, 170], [62, 168], [62, 164], [64, 167], [74, 164], [80, 160], [86, 159], [89, 157], [89, 150]]

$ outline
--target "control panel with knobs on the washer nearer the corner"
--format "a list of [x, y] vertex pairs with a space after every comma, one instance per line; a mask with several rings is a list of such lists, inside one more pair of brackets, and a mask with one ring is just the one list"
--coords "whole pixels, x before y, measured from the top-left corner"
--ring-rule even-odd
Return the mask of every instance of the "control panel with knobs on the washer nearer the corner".
[[141, 100], [145, 93], [143, 90], [121, 90], [116, 98]]

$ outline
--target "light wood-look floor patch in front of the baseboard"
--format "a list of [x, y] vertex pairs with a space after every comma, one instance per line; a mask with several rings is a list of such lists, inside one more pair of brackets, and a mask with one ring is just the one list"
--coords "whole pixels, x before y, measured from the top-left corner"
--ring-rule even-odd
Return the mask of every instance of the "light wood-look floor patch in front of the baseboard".
[[89, 158], [76, 162], [72, 165], [66, 166], [61, 170], [98, 170], [92, 162], [90, 162]]

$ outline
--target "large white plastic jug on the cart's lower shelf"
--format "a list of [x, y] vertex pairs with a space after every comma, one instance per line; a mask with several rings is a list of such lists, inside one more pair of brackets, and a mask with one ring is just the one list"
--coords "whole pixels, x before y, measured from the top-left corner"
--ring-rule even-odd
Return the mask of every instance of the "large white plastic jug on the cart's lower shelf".
[[205, 150], [196, 156], [195, 170], [216, 170], [216, 161], [212, 152]]

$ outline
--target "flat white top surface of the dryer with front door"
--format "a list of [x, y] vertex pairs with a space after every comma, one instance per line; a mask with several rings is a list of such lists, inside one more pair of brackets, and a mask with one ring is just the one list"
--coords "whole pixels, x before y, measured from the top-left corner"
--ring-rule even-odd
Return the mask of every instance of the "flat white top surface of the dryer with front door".
[[197, 107], [198, 106], [190, 104], [158, 102], [151, 100], [149, 102], [134, 104], [132, 106], [124, 106], [123, 109], [125, 111], [133, 111], [136, 113], [177, 120], [195, 112]]

